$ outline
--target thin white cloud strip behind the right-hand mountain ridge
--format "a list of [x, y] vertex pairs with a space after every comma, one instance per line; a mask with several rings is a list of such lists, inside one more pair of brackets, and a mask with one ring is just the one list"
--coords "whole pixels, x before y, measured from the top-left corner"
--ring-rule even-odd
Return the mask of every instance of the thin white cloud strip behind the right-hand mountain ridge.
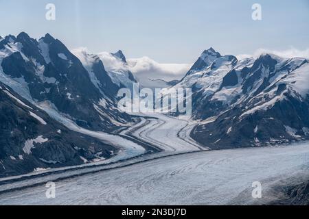
[[243, 60], [244, 58], [247, 58], [247, 57], [257, 58], [260, 55], [265, 54], [265, 53], [278, 55], [278, 56], [284, 57], [284, 58], [291, 58], [291, 57], [309, 58], [309, 49], [299, 50], [299, 49], [295, 49], [294, 47], [291, 47], [290, 49], [286, 49], [286, 50], [282, 50], [282, 51], [270, 50], [270, 49], [258, 49], [252, 55], [240, 54], [240, 55], [236, 55], [236, 57], [238, 58], [238, 60]]

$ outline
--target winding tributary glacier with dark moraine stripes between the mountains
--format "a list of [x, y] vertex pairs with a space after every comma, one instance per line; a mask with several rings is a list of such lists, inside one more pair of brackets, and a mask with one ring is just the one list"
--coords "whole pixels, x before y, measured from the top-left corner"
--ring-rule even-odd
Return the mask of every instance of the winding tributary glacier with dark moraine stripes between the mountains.
[[[69, 118], [54, 110], [49, 103], [41, 103], [40, 107], [69, 129], [113, 144], [119, 147], [120, 151], [110, 159], [102, 159], [80, 166], [40, 170], [25, 175], [0, 178], [0, 192], [24, 188], [45, 181], [54, 181], [89, 172], [127, 166], [149, 159], [208, 150], [190, 137], [190, 132], [195, 123], [184, 118], [174, 118], [163, 114], [138, 114], [137, 116], [142, 116], [139, 123], [133, 124], [120, 133], [110, 134], [78, 127]], [[146, 154], [147, 151], [142, 146], [143, 144], [140, 144], [140, 140], [143, 141], [143, 144], [155, 146], [160, 152]]]

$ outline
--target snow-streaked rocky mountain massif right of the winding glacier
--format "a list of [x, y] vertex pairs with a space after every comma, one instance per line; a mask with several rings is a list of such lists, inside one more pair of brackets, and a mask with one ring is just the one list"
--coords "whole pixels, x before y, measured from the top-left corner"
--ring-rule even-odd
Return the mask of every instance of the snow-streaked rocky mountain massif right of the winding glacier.
[[210, 48], [174, 88], [192, 88], [192, 116], [200, 120], [192, 138], [228, 149], [308, 140], [308, 80], [305, 58], [237, 60]]

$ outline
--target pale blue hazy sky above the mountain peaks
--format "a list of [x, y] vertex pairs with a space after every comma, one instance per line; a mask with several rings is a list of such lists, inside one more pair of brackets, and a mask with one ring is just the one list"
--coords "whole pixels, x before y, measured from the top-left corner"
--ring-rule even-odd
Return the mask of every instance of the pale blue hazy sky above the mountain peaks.
[[[47, 3], [56, 21], [45, 20]], [[251, 19], [253, 3], [262, 21]], [[122, 49], [158, 62], [191, 63], [209, 47], [233, 55], [309, 48], [308, 0], [0, 0], [0, 21], [0, 36], [49, 32], [69, 49]]]

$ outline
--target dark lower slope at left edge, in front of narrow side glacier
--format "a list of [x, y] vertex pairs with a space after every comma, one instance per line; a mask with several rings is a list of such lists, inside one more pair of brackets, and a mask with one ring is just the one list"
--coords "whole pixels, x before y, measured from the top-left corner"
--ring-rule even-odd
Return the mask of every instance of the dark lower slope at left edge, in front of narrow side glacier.
[[111, 157], [113, 146], [71, 131], [0, 82], [0, 177]]

